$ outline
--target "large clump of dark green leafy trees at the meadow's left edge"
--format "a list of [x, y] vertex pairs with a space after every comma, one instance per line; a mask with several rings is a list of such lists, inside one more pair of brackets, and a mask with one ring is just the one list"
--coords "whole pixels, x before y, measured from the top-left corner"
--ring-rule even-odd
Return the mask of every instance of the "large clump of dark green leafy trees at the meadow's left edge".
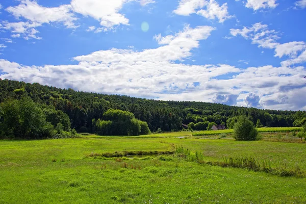
[[67, 138], [69, 117], [62, 111], [42, 109], [29, 97], [8, 99], [1, 104], [1, 137], [20, 139]]

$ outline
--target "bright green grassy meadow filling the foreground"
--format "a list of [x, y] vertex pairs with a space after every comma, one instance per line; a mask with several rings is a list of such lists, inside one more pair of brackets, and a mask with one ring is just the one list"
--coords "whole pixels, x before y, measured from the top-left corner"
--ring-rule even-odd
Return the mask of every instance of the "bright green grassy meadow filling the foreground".
[[269, 160], [277, 169], [298, 166], [306, 171], [305, 143], [177, 138], [188, 136], [182, 133], [0, 140], [0, 203], [306, 202], [305, 178], [222, 168], [172, 156], [88, 157], [116, 151], [169, 151], [174, 144], [202, 152], [206, 161], [253, 157]]

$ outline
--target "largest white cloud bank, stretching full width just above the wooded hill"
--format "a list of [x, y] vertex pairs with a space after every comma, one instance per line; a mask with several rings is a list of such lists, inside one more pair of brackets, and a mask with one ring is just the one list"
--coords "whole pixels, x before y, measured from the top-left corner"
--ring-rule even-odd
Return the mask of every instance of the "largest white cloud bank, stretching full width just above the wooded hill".
[[[306, 70], [303, 67], [239, 69], [226, 64], [186, 65], [174, 62], [190, 57], [191, 50], [199, 46], [200, 40], [207, 39], [213, 30], [207, 26], [194, 29], [186, 26], [173, 35], [156, 35], [158, 48], [139, 52], [133, 47], [100, 50], [75, 57], [74, 60], [79, 62], [76, 65], [24, 66], [0, 60], [0, 69], [4, 72], [0, 77], [108, 94], [306, 110], [304, 102], [295, 99], [302, 98], [300, 92], [305, 91], [302, 77], [306, 75]], [[224, 74], [235, 75], [217, 79]], [[278, 101], [281, 93], [284, 99]], [[286, 94], [292, 98], [286, 98]]]

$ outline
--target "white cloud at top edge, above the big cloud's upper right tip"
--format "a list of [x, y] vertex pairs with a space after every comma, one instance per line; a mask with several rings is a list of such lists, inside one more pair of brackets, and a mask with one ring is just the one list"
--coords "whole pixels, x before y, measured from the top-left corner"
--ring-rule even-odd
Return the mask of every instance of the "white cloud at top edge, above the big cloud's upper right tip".
[[227, 3], [220, 6], [215, 0], [181, 0], [173, 13], [183, 16], [196, 13], [208, 19], [218, 18], [219, 22], [233, 17], [227, 12]]

